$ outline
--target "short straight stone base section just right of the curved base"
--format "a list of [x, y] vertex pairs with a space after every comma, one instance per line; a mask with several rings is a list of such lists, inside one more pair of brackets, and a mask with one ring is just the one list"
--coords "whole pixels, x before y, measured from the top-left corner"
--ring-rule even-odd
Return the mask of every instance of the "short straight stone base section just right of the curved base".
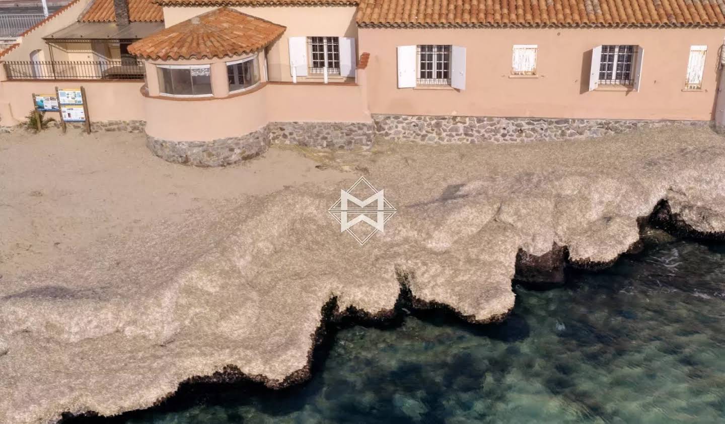
[[270, 122], [272, 144], [297, 144], [321, 149], [369, 148], [373, 122]]

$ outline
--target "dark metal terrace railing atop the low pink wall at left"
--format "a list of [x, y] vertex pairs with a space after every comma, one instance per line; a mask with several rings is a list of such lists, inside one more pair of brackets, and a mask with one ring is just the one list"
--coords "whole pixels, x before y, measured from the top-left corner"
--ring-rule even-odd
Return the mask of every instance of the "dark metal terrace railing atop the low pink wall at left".
[[4, 62], [9, 80], [143, 80], [144, 65], [136, 59], [88, 62]]

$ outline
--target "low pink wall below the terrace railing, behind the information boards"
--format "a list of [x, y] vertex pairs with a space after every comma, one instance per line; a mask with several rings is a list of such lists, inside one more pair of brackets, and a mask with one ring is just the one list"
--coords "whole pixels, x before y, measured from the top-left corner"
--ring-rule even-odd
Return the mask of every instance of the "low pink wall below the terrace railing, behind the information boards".
[[[54, 94], [55, 87], [86, 89], [88, 115], [92, 121], [145, 120], [141, 81], [2, 81], [0, 82], [0, 125], [25, 120], [33, 109], [33, 93]], [[3, 104], [4, 101], [4, 104]], [[9, 116], [8, 116], [9, 115]], [[56, 116], [48, 112], [48, 116]]]

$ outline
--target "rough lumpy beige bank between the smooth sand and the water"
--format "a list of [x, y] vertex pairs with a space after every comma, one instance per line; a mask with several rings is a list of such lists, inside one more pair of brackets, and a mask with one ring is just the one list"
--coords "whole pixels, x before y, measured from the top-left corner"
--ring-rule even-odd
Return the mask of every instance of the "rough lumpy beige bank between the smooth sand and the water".
[[341, 154], [399, 211], [365, 246], [326, 212], [347, 186], [307, 185], [4, 280], [0, 422], [149, 407], [194, 376], [297, 383], [330, 299], [386, 316], [401, 280], [415, 307], [500, 320], [515, 275], [544, 283], [565, 260], [610, 264], [658, 205], [660, 223], [725, 231], [725, 144], [706, 129]]

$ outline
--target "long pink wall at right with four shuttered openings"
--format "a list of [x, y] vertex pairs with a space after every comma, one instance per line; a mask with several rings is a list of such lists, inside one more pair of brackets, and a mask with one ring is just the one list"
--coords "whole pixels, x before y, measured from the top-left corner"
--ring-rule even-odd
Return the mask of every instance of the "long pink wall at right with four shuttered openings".
[[[711, 120], [721, 28], [360, 28], [370, 52], [373, 114]], [[397, 88], [397, 46], [466, 48], [465, 90]], [[514, 44], [537, 44], [537, 78], [510, 78]], [[589, 91], [591, 51], [634, 44], [644, 51], [640, 90]], [[703, 86], [683, 91], [689, 48], [707, 45]]]

